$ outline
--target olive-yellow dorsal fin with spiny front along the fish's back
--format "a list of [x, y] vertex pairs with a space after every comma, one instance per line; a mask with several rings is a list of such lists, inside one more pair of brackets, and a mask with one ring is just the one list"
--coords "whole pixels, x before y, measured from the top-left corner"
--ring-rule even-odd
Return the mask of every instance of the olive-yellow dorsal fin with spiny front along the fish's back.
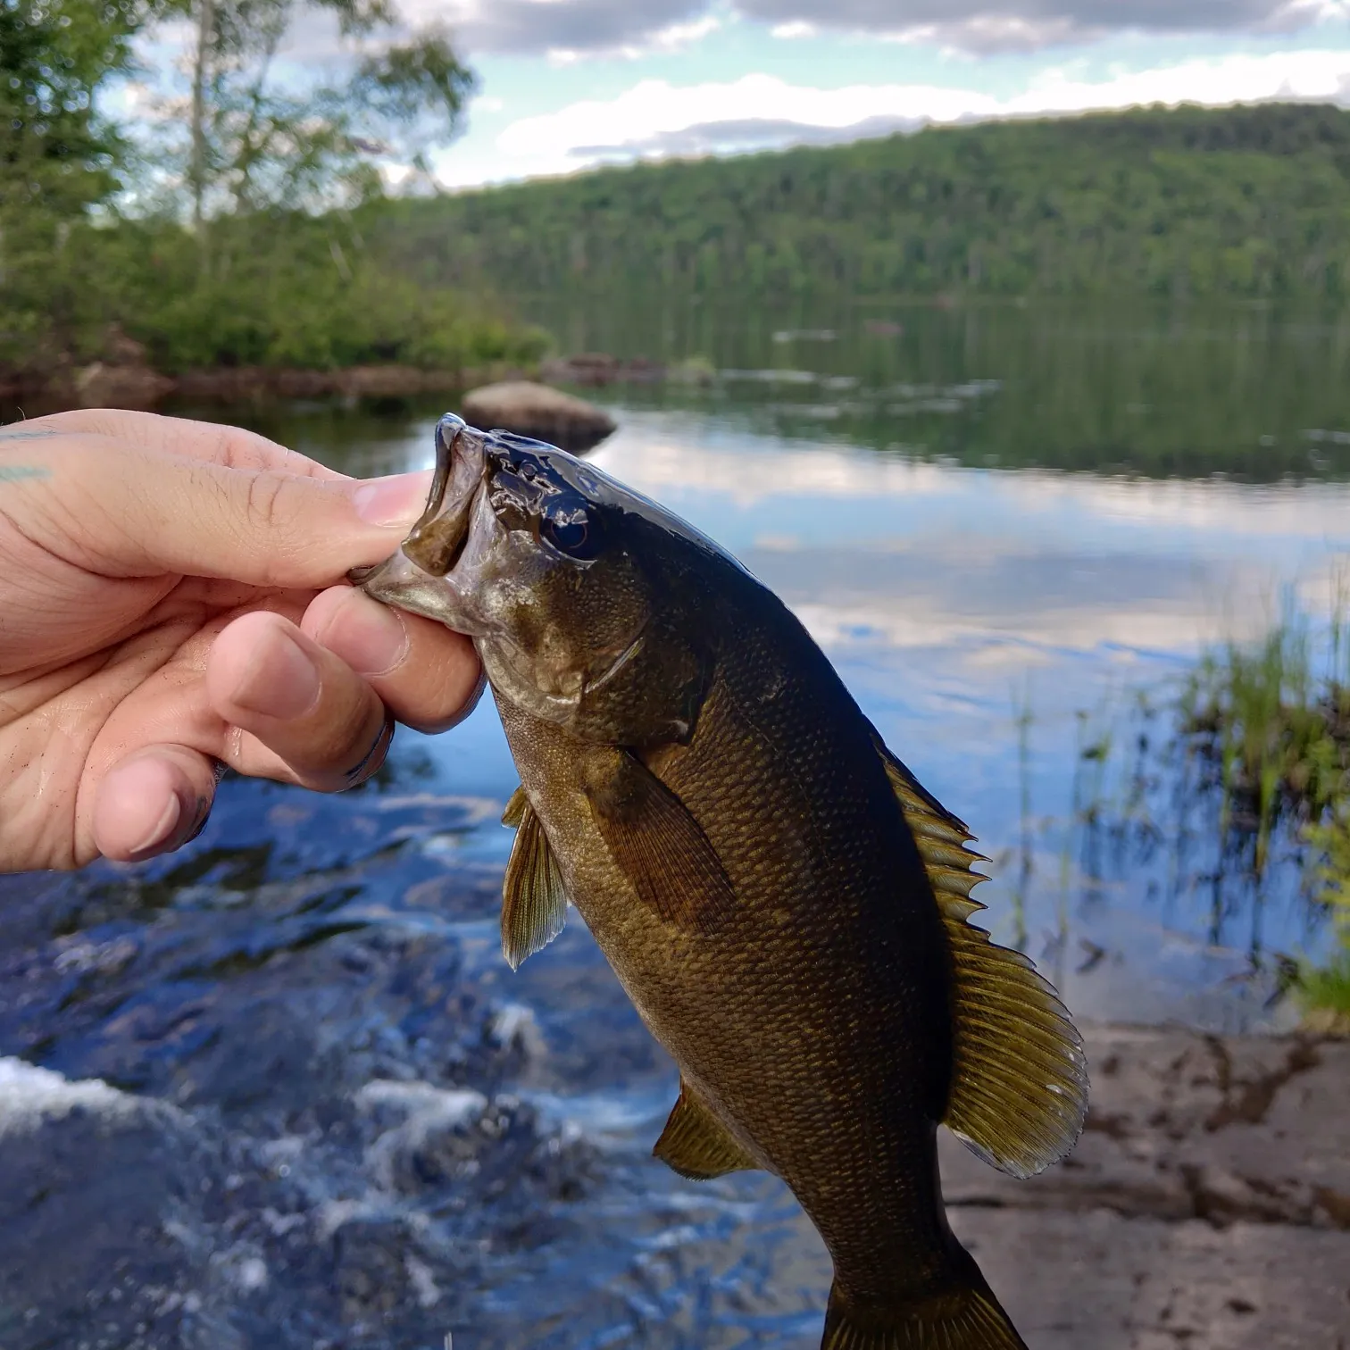
[[1088, 1107], [1083, 1041], [1053, 986], [1021, 952], [971, 923], [971, 890], [988, 859], [975, 836], [878, 741], [887, 778], [918, 845], [956, 973], [954, 1064], [944, 1123], [986, 1162], [1034, 1176], [1073, 1148]]

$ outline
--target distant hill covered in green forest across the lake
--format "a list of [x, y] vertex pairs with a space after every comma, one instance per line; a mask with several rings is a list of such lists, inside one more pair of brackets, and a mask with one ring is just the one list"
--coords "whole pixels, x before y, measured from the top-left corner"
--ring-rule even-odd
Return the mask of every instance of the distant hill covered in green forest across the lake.
[[1149, 108], [644, 163], [360, 212], [423, 284], [1350, 294], [1350, 112]]

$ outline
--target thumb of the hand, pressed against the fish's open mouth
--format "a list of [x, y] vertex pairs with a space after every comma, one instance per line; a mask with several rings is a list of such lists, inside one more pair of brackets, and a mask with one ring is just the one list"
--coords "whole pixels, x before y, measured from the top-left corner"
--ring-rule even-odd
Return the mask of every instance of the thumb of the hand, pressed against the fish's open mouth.
[[323, 479], [104, 436], [63, 440], [45, 458], [45, 479], [15, 485], [27, 498], [49, 497], [36, 513], [39, 541], [111, 576], [180, 572], [319, 589], [392, 554], [429, 486], [425, 473]]

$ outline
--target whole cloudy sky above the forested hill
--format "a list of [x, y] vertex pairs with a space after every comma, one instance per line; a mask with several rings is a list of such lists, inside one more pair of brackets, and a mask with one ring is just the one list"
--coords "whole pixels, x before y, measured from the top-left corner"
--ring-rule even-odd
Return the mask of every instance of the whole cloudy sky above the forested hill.
[[[451, 188], [1141, 103], [1350, 104], [1350, 0], [401, 0], [479, 76]], [[340, 59], [308, 20], [288, 55]]]

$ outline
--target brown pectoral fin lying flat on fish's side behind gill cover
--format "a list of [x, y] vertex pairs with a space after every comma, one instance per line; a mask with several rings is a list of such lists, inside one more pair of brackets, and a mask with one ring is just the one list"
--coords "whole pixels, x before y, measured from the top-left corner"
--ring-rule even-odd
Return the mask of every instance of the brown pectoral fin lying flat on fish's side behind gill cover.
[[644, 905], [711, 933], [736, 905], [730, 878], [688, 807], [634, 755], [593, 761], [586, 795], [601, 837]]

